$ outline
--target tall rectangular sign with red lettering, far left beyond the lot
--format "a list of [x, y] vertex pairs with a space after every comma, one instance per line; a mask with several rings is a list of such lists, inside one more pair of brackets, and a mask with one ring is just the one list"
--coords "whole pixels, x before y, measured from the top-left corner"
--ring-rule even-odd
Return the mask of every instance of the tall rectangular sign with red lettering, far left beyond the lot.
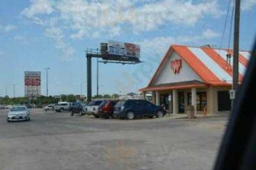
[[41, 95], [41, 72], [25, 71], [25, 96], [28, 98], [39, 97]]

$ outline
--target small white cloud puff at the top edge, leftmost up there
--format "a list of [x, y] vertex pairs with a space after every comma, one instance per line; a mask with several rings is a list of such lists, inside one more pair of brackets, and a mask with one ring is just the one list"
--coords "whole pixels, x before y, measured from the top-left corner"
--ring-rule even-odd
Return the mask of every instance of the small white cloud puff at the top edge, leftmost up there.
[[30, 2], [32, 4], [21, 12], [27, 18], [33, 18], [37, 14], [51, 14], [54, 11], [49, 0], [30, 0]]

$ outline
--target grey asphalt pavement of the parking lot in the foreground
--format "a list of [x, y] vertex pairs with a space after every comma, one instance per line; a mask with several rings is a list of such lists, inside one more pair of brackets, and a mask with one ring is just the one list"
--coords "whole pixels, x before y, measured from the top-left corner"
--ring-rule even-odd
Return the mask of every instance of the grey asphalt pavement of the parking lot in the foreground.
[[104, 120], [32, 111], [6, 122], [0, 111], [1, 170], [212, 169], [227, 117]]

